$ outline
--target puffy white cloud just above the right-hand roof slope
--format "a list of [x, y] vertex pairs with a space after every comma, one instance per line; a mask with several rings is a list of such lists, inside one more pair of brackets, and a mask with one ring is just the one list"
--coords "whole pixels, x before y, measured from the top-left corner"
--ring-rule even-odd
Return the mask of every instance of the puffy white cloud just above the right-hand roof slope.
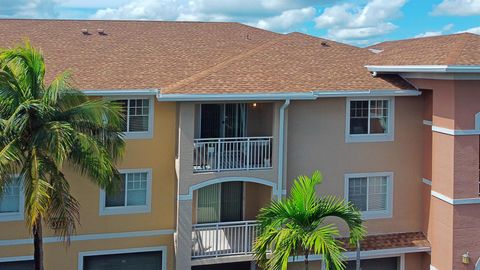
[[334, 5], [325, 8], [315, 18], [315, 26], [328, 29], [327, 38], [368, 43], [366, 39], [388, 34], [397, 28], [391, 20], [401, 16], [400, 9], [405, 3], [406, 0], [370, 0], [363, 6], [352, 3]]

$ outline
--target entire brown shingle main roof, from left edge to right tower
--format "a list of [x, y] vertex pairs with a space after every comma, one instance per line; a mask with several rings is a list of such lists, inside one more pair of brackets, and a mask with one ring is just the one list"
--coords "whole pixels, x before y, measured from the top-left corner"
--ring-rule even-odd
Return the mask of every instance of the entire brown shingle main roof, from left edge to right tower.
[[80, 89], [188, 94], [413, 89], [396, 76], [373, 78], [364, 68], [368, 50], [238, 23], [7, 19], [0, 20], [0, 33], [0, 47], [29, 38], [44, 52], [47, 79], [70, 69]]

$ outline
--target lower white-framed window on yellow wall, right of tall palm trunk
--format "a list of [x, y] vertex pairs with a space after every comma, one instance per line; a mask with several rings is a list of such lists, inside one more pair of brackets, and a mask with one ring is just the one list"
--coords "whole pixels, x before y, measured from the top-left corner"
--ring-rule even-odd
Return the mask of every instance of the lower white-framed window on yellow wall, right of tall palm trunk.
[[120, 187], [100, 193], [100, 215], [150, 212], [151, 170], [123, 170]]

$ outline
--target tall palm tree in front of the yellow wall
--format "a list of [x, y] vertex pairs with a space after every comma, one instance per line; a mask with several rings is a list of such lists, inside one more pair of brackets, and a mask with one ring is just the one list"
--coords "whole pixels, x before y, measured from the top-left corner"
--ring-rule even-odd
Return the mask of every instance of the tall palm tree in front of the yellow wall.
[[89, 100], [68, 72], [46, 86], [43, 55], [28, 41], [0, 50], [0, 187], [20, 175], [36, 270], [43, 270], [42, 223], [69, 242], [79, 222], [64, 168], [111, 190], [120, 180], [123, 122], [119, 105]]

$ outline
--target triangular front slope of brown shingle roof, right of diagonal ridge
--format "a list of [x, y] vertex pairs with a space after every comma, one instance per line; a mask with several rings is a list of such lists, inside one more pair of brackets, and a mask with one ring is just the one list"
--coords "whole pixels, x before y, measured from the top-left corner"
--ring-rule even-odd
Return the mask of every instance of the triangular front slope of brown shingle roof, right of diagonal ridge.
[[300, 33], [281, 36], [177, 82], [163, 93], [255, 93], [413, 89], [396, 76], [374, 78], [364, 68], [371, 53]]

